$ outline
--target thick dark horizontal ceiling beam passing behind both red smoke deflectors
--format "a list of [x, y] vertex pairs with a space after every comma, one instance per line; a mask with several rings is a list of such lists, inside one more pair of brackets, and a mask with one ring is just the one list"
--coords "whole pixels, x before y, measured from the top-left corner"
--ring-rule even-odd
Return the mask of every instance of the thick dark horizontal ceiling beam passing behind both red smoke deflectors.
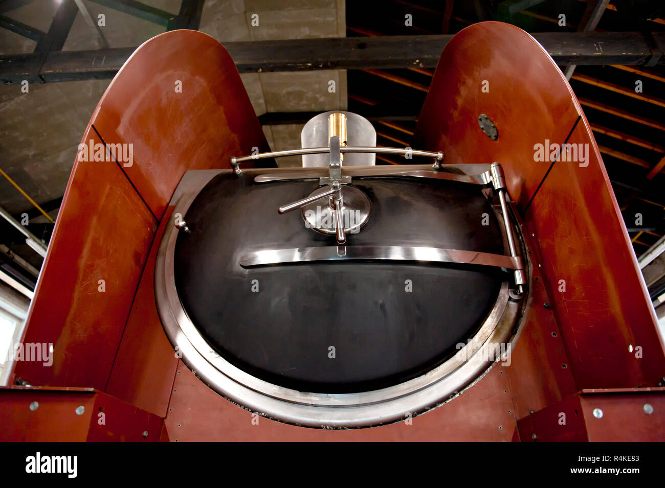
[[[665, 33], [651, 35], [665, 43]], [[558, 64], [645, 64], [657, 55], [642, 33], [536, 33], [533, 37]], [[227, 42], [224, 46], [241, 73], [434, 68], [451, 38], [335, 37]], [[601, 45], [602, 49], [598, 47]], [[49, 52], [41, 68], [35, 67], [35, 56], [30, 54], [0, 56], [0, 81], [16, 83], [26, 76], [41, 78], [43, 82], [112, 78], [135, 49]], [[665, 64], [665, 56], [658, 63]]]

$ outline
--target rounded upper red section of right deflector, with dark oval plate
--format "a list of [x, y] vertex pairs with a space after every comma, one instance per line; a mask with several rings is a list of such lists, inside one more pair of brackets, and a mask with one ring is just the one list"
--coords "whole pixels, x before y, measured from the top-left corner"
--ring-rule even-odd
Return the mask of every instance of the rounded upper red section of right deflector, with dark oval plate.
[[[412, 146], [444, 151], [446, 164], [499, 161], [523, 210], [549, 167], [533, 161], [533, 146], [565, 142], [580, 113], [561, 70], [535, 39], [509, 24], [483, 22], [446, 44]], [[480, 114], [496, 125], [495, 141], [480, 129]]]

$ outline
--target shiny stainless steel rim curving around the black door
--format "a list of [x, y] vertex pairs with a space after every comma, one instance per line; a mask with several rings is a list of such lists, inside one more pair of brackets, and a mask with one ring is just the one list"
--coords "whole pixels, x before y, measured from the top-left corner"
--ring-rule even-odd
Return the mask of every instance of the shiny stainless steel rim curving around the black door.
[[[185, 215], [198, 191], [184, 194], [173, 214]], [[454, 398], [497, 360], [496, 344], [506, 344], [519, 315], [508, 283], [473, 340], [422, 376], [401, 384], [350, 394], [299, 392], [261, 380], [217, 354], [188, 317], [176, 290], [174, 251], [178, 230], [168, 226], [155, 268], [155, 295], [162, 325], [178, 355], [213, 390], [232, 402], [282, 422], [316, 428], [375, 426], [416, 415]], [[238, 265], [239, 266], [239, 265]], [[489, 358], [489, 359], [488, 359]]]

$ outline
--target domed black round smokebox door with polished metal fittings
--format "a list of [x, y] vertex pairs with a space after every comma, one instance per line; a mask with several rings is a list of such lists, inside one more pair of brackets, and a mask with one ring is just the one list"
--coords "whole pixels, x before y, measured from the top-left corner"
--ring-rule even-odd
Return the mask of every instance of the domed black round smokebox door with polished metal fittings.
[[[372, 210], [346, 246], [503, 254], [491, 206], [475, 185], [393, 177], [354, 179], [353, 186], [366, 193]], [[306, 392], [375, 390], [452, 357], [491, 311], [505, 280], [498, 268], [239, 265], [247, 252], [335, 246], [334, 236], [305, 228], [301, 212], [277, 214], [278, 206], [318, 187], [219, 175], [199, 193], [185, 217], [192, 232], [178, 236], [174, 266], [184, 309], [203, 337], [242, 370]]]

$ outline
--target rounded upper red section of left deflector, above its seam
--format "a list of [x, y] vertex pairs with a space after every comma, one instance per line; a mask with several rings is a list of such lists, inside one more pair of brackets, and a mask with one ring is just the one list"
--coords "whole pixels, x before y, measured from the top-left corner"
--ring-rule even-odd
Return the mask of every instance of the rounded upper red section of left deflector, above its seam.
[[157, 218], [185, 171], [228, 168], [232, 156], [252, 147], [269, 151], [233, 59], [197, 31], [144, 42], [91, 123], [107, 144], [133, 144], [134, 161], [124, 171]]

